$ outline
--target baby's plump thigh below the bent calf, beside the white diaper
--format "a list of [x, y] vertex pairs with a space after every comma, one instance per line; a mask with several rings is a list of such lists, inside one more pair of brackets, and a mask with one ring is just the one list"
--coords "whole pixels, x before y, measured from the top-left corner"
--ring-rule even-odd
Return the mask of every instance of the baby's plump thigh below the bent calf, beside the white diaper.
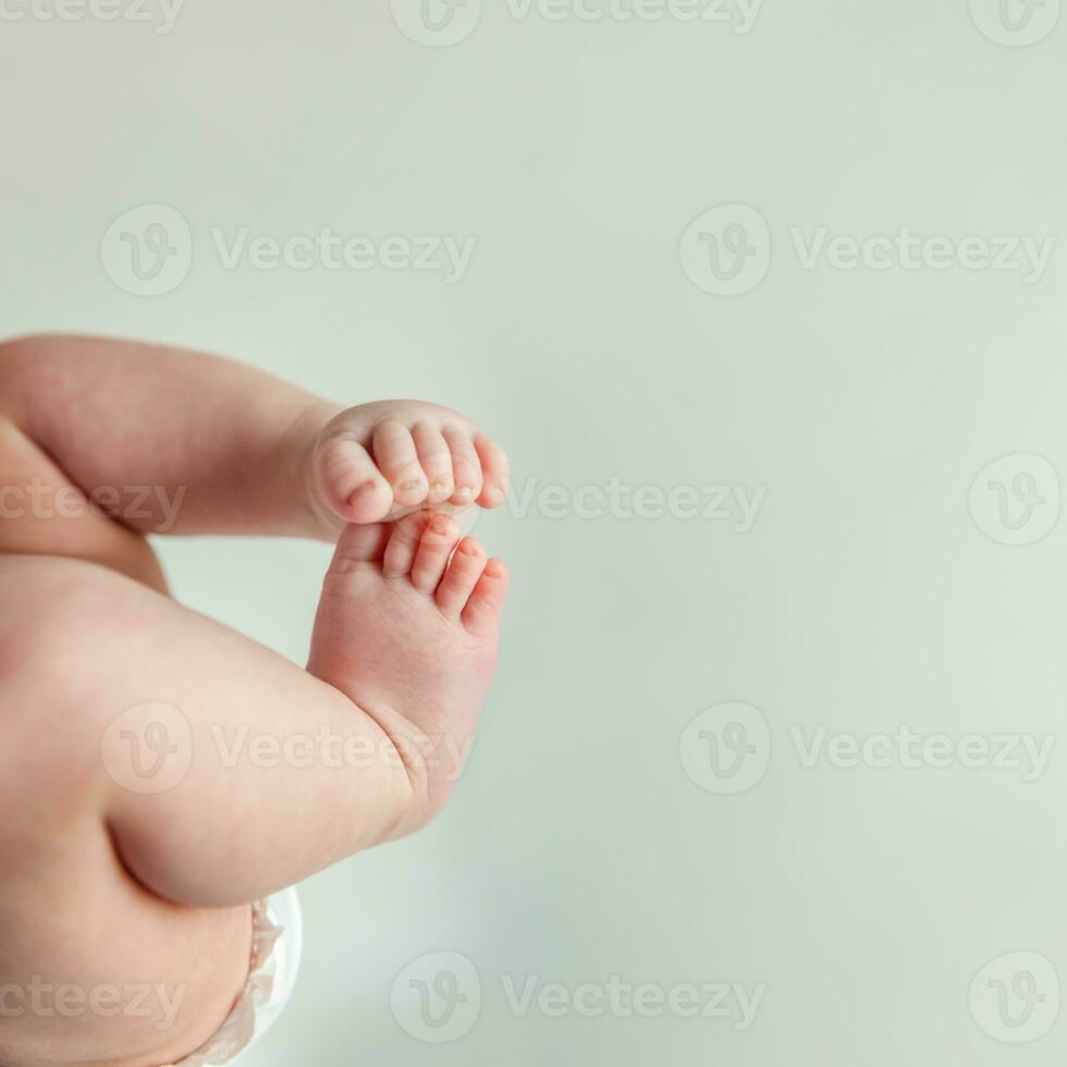
[[0, 829], [0, 1062], [149, 1067], [193, 1052], [244, 984], [250, 909], [160, 899], [84, 797], [47, 781], [22, 792]]

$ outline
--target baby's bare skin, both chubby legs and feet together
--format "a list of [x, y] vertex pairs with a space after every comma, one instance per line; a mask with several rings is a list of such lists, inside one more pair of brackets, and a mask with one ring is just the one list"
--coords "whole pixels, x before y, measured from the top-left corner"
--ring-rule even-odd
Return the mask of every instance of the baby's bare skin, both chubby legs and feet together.
[[[244, 983], [253, 900], [440, 810], [507, 574], [439, 510], [495, 506], [506, 480], [434, 405], [345, 410], [140, 345], [0, 345], [0, 1063], [188, 1055]], [[149, 532], [336, 541], [307, 671], [174, 602]], [[191, 762], [148, 793], [112, 724], [159, 703]]]

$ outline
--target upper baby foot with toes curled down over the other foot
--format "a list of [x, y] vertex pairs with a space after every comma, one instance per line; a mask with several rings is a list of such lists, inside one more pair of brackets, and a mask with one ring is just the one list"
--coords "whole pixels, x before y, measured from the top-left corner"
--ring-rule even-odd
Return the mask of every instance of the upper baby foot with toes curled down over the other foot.
[[345, 524], [391, 520], [427, 505], [496, 507], [507, 490], [507, 456], [446, 407], [383, 401], [330, 420], [310, 481], [319, 517], [336, 535]]

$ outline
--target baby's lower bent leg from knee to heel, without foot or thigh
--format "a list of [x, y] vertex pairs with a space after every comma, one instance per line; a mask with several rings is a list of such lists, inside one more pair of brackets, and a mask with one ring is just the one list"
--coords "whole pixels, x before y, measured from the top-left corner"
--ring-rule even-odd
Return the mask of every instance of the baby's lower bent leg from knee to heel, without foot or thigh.
[[0, 561], [0, 602], [4, 762], [77, 782], [158, 896], [248, 904], [407, 826], [389, 735], [274, 652], [73, 561]]

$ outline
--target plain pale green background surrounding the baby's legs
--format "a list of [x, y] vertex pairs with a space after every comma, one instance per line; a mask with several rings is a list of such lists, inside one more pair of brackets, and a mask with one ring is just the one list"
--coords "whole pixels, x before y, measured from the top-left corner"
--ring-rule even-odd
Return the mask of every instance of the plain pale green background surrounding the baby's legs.
[[[729, 25], [512, 19], [430, 49], [384, 0], [186, 0], [150, 25], [0, 22], [2, 330], [237, 356], [340, 401], [453, 405], [520, 483], [765, 487], [751, 531], [495, 514], [515, 580], [475, 760], [426, 833], [303, 887], [293, 1003], [253, 1065], [1052, 1065], [968, 1009], [1013, 951], [1067, 978], [1067, 750], [1009, 770], [799, 766], [788, 727], [1057, 733], [1065, 536], [995, 543], [968, 491], [999, 456], [1067, 464], [1067, 252], [1043, 280], [799, 269], [789, 226], [1058, 235], [1067, 20], [991, 42], [966, 0], [765, 0]], [[678, 242], [755, 206], [766, 280], [690, 284]], [[156, 298], [100, 266], [145, 203], [189, 220]], [[437, 274], [228, 272], [211, 226], [473, 234]], [[115, 403], [130, 403], [116, 396]], [[76, 417], [76, 413], [71, 413]], [[318, 545], [161, 545], [177, 594], [301, 661]], [[751, 703], [770, 773], [683, 771], [702, 709]], [[390, 1011], [429, 952], [476, 961], [477, 1027]], [[765, 983], [756, 1025], [522, 1019], [519, 983]]]

